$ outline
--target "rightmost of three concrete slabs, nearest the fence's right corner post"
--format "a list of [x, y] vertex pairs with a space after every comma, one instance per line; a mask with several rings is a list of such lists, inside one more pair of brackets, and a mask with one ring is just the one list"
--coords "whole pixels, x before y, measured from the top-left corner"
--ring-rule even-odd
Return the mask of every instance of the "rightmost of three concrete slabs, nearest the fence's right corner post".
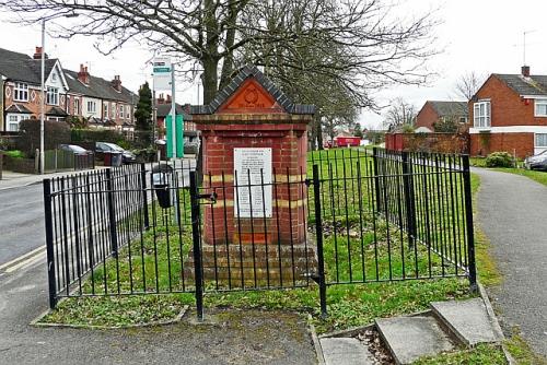
[[466, 345], [497, 342], [491, 319], [481, 298], [431, 303], [433, 314]]

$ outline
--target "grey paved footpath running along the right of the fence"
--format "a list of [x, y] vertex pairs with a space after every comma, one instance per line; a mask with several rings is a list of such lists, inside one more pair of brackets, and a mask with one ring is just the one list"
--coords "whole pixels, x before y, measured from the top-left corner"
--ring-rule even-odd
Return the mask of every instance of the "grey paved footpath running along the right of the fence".
[[478, 221], [503, 275], [490, 289], [505, 334], [521, 329], [547, 356], [547, 187], [527, 177], [486, 169], [480, 176]]

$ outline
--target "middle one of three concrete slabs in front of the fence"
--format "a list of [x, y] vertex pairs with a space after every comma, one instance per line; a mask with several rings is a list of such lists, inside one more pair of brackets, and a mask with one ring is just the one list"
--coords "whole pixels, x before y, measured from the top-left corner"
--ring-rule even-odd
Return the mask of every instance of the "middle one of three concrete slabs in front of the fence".
[[433, 317], [376, 319], [376, 327], [397, 364], [454, 350], [455, 344]]

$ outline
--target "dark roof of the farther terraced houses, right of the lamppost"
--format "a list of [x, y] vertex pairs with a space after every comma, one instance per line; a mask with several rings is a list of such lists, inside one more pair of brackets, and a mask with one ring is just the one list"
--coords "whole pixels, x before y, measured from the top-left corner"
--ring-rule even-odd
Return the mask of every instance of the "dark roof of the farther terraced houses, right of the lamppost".
[[90, 74], [90, 84], [85, 85], [80, 80], [78, 80], [78, 72], [67, 69], [63, 69], [62, 71], [67, 76], [69, 92], [96, 98], [121, 101], [130, 104], [137, 103], [139, 98], [135, 93], [124, 86], [121, 86], [121, 92], [117, 92], [112, 86], [110, 81]]

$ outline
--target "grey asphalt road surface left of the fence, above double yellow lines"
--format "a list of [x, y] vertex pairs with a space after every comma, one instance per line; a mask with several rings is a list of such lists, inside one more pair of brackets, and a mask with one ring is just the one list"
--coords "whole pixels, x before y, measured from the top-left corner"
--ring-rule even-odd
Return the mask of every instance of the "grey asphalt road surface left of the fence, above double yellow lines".
[[0, 266], [45, 246], [42, 185], [0, 190]]

